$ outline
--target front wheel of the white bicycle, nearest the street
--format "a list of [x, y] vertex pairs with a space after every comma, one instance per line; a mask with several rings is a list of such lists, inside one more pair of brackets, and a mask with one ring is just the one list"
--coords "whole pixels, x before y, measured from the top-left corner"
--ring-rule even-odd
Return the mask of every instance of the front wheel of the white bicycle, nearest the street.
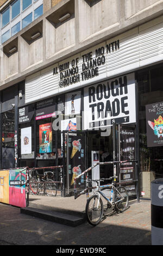
[[101, 222], [101, 219], [103, 217], [103, 202], [102, 199], [99, 198], [99, 204], [98, 204], [98, 195], [94, 194], [87, 200], [85, 213], [87, 216], [87, 221], [95, 226], [99, 222]]

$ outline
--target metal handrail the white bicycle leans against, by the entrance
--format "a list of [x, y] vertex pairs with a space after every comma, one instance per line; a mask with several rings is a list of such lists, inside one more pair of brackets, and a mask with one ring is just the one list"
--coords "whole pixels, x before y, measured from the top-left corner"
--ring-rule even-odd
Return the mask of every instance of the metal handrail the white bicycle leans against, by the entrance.
[[[129, 162], [135, 162], [137, 167], [138, 167], [138, 161], [137, 160], [125, 160], [125, 161], [112, 161], [112, 162], [98, 162], [96, 164], [94, 164], [93, 166], [87, 168], [86, 170], [84, 170], [83, 173], [80, 173], [77, 177], [74, 178], [74, 199], [77, 199], [79, 196], [81, 196], [82, 194], [86, 193], [86, 197], [87, 199], [89, 199], [89, 190], [96, 188], [95, 187], [89, 187], [89, 182], [88, 182], [88, 176], [86, 176], [86, 188], [85, 190], [83, 190], [82, 192], [80, 192], [79, 194], [77, 194], [77, 179], [79, 179], [82, 175], [84, 175], [87, 172], [90, 172], [90, 170], [92, 170], [93, 168], [95, 168], [97, 165], [105, 165], [105, 164], [113, 164], [114, 165], [114, 176], [116, 176], [116, 164], [120, 164], [120, 163], [129, 163]], [[122, 181], [122, 182], [117, 182], [118, 185], [124, 185], [124, 184], [131, 184], [133, 182], [138, 182], [139, 180], [132, 180], [132, 181]], [[137, 200], [139, 200], [139, 196], [137, 194]]]

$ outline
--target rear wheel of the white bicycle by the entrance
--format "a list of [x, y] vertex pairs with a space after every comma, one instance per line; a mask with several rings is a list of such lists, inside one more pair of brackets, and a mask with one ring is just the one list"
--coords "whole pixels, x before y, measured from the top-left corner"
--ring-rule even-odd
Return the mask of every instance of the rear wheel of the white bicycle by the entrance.
[[[120, 202], [117, 202], [120, 200]], [[117, 202], [117, 203], [116, 203]], [[115, 208], [117, 211], [123, 212], [128, 207], [128, 192], [125, 187], [120, 186], [115, 191]]]

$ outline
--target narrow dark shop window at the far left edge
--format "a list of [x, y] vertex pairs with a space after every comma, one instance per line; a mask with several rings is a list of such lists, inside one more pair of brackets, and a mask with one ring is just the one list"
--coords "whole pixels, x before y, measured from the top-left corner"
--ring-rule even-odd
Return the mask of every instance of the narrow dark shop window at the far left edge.
[[2, 168], [14, 168], [15, 110], [2, 113]]

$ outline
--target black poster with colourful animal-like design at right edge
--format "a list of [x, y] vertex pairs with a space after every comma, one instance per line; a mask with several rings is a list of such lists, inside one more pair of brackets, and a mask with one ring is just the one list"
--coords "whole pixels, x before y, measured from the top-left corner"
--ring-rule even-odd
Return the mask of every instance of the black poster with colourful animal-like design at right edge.
[[146, 105], [147, 147], [163, 145], [163, 101]]

